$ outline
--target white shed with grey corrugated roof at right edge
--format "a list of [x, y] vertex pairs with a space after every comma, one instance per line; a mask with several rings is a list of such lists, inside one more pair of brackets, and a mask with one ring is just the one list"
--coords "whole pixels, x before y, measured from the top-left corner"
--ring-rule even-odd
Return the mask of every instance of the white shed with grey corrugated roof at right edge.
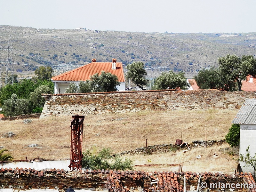
[[[256, 99], [246, 99], [233, 124], [240, 124], [240, 148], [239, 154], [246, 154], [246, 148], [250, 145], [250, 155], [253, 157], [256, 153]], [[253, 168], [247, 167], [243, 162], [239, 162], [242, 172], [251, 172]]]

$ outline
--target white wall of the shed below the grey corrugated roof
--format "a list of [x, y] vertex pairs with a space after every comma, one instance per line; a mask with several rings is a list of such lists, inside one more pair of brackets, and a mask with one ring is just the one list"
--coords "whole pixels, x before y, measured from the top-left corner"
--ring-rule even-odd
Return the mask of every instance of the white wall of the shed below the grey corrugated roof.
[[[256, 153], [256, 125], [241, 124], [240, 125], [240, 149], [239, 153], [245, 156], [246, 148], [250, 145], [250, 154], [254, 156]], [[247, 167], [240, 161], [242, 172], [251, 172], [253, 174], [253, 168]]]

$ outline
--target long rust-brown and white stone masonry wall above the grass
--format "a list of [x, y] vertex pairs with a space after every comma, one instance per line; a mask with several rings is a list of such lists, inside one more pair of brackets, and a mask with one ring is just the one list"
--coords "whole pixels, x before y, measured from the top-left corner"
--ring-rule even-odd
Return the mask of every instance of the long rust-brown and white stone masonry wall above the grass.
[[256, 98], [256, 92], [151, 90], [43, 96], [48, 99], [40, 118], [52, 115], [124, 113], [140, 110], [239, 109], [246, 98]]

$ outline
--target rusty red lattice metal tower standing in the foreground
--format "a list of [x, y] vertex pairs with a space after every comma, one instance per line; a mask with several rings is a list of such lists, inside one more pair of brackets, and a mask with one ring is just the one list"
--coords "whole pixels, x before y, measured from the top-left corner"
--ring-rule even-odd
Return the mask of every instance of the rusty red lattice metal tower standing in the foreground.
[[82, 170], [82, 146], [84, 116], [74, 115], [71, 120], [71, 144], [70, 144], [70, 165], [73, 170]]

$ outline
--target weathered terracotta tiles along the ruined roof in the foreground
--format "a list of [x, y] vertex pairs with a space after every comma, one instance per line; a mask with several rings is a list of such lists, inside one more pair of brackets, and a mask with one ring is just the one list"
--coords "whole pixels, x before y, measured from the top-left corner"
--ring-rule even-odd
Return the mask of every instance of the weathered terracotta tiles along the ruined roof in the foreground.
[[[0, 172], [13, 172], [12, 169], [0, 169]], [[26, 174], [33, 174], [37, 175], [38, 177], [44, 177], [44, 174], [48, 174], [48, 172], [52, 172], [56, 175], [61, 175], [61, 173], [64, 173], [65, 171], [63, 169], [44, 169], [44, 170], [35, 170], [31, 168], [16, 168], [13, 172], [15, 175], [26, 175]], [[106, 181], [106, 188], [109, 192], [127, 192], [129, 191], [129, 188], [123, 188], [125, 182], [125, 178], [131, 178], [133, 181], [135, 180], [141, 180], [139, 175], [145, 175], [148, 179], [158, 179], [158, 182], [155, 184], [156, 186], [152, 186], [150, 188], [145, 188], [145, 191], [151, 191], [151, 192], [183, 192], [183, 186], [180, 182], [183, 180], [183, 175], [186, 175], [188, 179], [195, 179], [197, 180], [199, 174], [196, 174], [195, 172], [155, 172], [156, 177], [152, 176], [153, 172], [144, 172], [144, 171], [132, 171], [132, 170], [85, 170], [80, 172], [80, 174], [102, 174], [102, 173], [108, 173], [107, 174], [107, 181]], [[63, 175], [64, 176], [64, 175]], [[122, 176], [122, 179], [119, 179], [118, 177]], [[215, 173], [215, 175], [211, 172], [201, 172], [201, 176], [205, 179], [211, 178], [211, 177], [222, 177], [223, 179], [226, 178], [244, 178], [246, 182], [249, 184], [252, 183], [253, 188], [252, 192], [255, 192], [256, 189], [256, 183], [253, 179], [253, 176], [251, 173], [237, 173], [237, 174], [220, 174], [219, 172]], [[192, 178], [193, 177], [193, 178]], [[179, 180], [178, 180], [179, 179]], [[137, 181], [135, 181], [137, 182]]]

